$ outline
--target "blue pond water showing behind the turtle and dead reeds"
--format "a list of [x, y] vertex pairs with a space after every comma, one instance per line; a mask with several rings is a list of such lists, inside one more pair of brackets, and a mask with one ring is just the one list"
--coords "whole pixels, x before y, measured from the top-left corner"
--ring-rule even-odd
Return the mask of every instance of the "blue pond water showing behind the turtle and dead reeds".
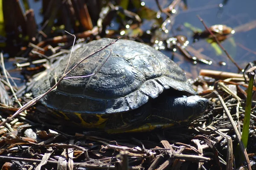
[[[40, 15], [41, 1], [28, 0], [30, 8], [35, 11], [36, 22], [40, 26], [43, 17]], [[170, 0], [159, 0], [163, 7], [170, 4]], [[166, 4], [166, 5], [165, 5]], [[145, 0], [145, 6], [157, 11], [157, 5], [153, 0]], [[220, 7], [222, 6], [222, 7]], [[192, 64], [191, 61], [184, 61], [182, 58], [175, 57], [177, 62], [185, 71], [188, 77], [196, 77], [200, 69], [212, 69], [219, 71], [237, 72], [236, 66], [226, 57], [224, 52], [218, 54], [215, 48], [206, 40], [199, 40], [192, 43], [193, 31], [187, 25], [204, 30], [203, 24], [199, 21], [197, 15], [204, 20], [207, 26], [215, 24], [224, 24], [236, 30], [227, 40], [222, 42], [224, 48], [235, 59], [241, 68], [244, 68], [248, 62], [256, 60], [256, 26], [250, 24], [241, 29], [236, 29], [246, 23], [256, 23], [256, 0], [187, 0], [187, 9], [179, 8], [175, 15], [175, 22], [172, 33], [183, 34], [188, 37], [189, 45], [201, 54], [206, 55], [207, 59], [212, 60], [212, 65]], [[181, 31], [177, 31], [181, 28]], [[170, 35], [171, 36], [171, 35]], [[170, 51], [162, 51], [167, 56], [171, 56]], [[226, 65], [219, 65], [219, 62], [225, 62]], [[7, 68], [11, 69], [10, 63]], [[17, 75], [16, 75], [17, 76]]]

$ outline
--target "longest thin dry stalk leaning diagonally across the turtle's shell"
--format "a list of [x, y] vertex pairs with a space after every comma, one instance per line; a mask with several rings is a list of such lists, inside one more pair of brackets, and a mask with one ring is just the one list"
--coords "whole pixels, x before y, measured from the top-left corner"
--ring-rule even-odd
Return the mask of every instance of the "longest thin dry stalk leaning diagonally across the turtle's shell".
[[40, 99], [42, 99], [45, 95], [47, 95], [49, 92], [51, 92], [52, 90], [54, 90], [57, 85], [68, 75], [70, 74], [71, 71], [73, 71], [81, 62], [83, 62], [85, 59], [99, 53], [100, 51], [104, 50], [105, 48], [108, 48], [110, 45], [116, 43], [116, 41], [118, 41], [119, 39], [116, 39], [115, 41], [109, 43], [108, 45], [106, 45], [105, 47], [97, 50], [96, 52], [88, 55], [87, 57], [84, 57], [83, 59], [81, 59], [73, 68], [71, 68], [69, 71], [67, 71], [67, 73], [63, 74], [61, 76], [61, 78], [58, 80], [58, 82], [52, 86], [52, 88], [50, 88], [47, 92], [45, 92], [44, 94], [32, 99], [31, 101], [27, 102], [25, 105], [23, 105], [23, 107], [21, 107], [18, 111], [16, 111], [11, 117], [8, 117], [5, 121], [0, 123], [0, 126], [4, 125], [5, 123], [10, 122], [11, 119], [15, 118], [16, 116], [18, 116], [21, 112], [25, 111], [26, 109], [28, 109], [30, 106], [34, 105], [36, 102], [38, 102]]

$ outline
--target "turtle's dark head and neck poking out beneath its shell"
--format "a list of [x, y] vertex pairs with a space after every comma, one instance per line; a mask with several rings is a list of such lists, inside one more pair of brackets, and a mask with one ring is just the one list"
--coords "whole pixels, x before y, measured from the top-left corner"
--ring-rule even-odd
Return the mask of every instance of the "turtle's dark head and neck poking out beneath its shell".
[[206, 111], [208, 99], [200, 96], [163, 96], [154, 102], [149, 122], [191, 122]]

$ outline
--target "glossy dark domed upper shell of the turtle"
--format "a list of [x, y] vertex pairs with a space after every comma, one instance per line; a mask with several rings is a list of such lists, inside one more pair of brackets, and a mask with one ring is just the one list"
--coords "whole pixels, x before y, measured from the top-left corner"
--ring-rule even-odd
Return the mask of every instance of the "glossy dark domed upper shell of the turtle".
[[[35, 81], [32, 94], [37, 97], [46, 92], [55, 84], [55, 74], [58, 80], [66, 67], [70, 70], [111, 41], [102, 38], [79, 44], [70, 62], [68, 54]], [[90, 74], [94, 75], [81, 77]], [[137, 109], [168, 89], [196, 94], [175, 62], [160, 51], [131, 40], [118, 40], [85, 59], [67, 77], [70, 78], [61, 81], [57, 89], [41, 99], [48, 108], [65, 113], [113, 114]]]

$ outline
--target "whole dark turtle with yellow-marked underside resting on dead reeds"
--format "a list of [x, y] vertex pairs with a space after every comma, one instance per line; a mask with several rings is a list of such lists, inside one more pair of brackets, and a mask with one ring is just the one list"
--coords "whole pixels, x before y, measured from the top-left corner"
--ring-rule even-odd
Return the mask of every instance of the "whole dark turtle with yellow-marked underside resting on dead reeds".
[[[111, 41], [76, 45], [71, 58], [61, 57], [33, 81], [32, 95], [44, 94], [66, 69]], [[208, 99], [197, 95], [169, 57], [144, 43], [120, 39], [81, 62], [40, 103], [79, 127], [122, 133], [187, 124], [204, 113]]]

